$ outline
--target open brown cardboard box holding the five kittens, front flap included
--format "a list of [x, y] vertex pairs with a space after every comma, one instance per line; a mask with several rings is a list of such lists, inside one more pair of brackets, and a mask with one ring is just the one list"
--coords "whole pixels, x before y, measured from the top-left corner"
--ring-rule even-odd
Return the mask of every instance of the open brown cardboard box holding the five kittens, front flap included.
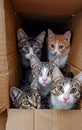
[[[9, 88], [16, 86], [21, 76], [17, 29], [22, 27], [22, 22], [40, 19], [61, 24], [65, 30], [68, 21], [73, 34], [68, 63], [76, 75], [82, 71], [81, 8], [82, 0], [0, 0], [0, 130], [82, 130], [81, 106], [74, 111], [9, 109]], [[75, 17], [72, 17], [74, 12]]]

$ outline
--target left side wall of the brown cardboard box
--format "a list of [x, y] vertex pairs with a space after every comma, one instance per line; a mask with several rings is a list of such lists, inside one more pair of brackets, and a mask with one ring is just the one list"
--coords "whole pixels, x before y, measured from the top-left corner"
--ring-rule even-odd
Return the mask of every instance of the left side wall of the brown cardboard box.
[[[0, 113], [9, 107], [9, 87], [16, 85], [20, 65], [16, 29], [20, 26], [8, 0], [0, 0]], [[19, 68], [19, 69], [18, 69]], [[20, 74], [21, 75], [21, 74]], [[17, 76], [17, 77], [16, 77]]]

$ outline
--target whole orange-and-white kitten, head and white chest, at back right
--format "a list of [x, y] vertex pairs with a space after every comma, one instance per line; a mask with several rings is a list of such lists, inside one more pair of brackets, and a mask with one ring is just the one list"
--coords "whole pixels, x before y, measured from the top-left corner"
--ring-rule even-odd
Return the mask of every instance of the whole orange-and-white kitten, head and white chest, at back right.
[[60, 56], [60, 68], [64, 68], [70, 51], [71, 32], [63, 35], [54, 34], [48, 29], [48, 60]]

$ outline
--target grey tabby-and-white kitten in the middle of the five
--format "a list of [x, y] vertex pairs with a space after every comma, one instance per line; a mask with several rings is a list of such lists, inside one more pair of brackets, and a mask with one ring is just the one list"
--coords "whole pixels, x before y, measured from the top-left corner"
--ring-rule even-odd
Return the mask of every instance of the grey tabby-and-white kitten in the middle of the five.
[[42, 98], [46, 98], [50, 92], [53, 68], [55, 65], [59, 65], [59, 62], [54, 58], [50, 62], [41, 62], [36, 55], [31, 55], [30, 64], [34, 78], [31, 86], [38, 89]]

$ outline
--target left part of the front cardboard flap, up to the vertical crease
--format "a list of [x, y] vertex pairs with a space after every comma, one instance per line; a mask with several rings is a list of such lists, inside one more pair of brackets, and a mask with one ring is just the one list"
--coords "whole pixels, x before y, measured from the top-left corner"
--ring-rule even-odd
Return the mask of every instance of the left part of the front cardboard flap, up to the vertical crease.
[[6, 130], [33, 130], [33, 111], [9, 109]]

